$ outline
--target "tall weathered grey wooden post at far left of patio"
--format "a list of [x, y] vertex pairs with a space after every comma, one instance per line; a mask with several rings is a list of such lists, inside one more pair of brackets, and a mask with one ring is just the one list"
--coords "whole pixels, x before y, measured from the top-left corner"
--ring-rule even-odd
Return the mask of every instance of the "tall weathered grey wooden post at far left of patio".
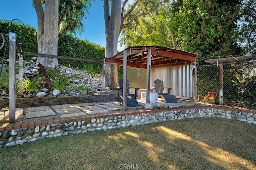
[[9, 116], [10, 123], [15, 123], [15, 59], [16, 59], [16, 33], [9, 33]]

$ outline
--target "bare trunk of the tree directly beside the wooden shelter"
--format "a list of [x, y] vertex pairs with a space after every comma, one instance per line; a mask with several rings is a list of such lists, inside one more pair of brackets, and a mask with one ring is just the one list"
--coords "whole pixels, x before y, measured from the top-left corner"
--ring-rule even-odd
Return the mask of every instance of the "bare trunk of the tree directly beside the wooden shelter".
[[[105, 31], [106, 31], [106, 55], [112, 58], [117, 54], [119, 30], [121, 26], [121, 0], [111, 1], [111, 15], [109, 15], [109, 0], [104, 2]], [[110, 68], [110, 69], [109, 69]], [[106, 66], [105, 86], [114, 90], [118, 86], [117, 66]]]

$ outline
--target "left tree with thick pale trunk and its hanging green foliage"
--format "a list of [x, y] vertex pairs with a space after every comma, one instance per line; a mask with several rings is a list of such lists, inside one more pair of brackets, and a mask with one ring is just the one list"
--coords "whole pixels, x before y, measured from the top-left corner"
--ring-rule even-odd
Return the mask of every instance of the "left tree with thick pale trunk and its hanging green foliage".
[[[57, 55], [58, 31], [76, 34], [84, 31], [82, 18], [86, 18], [90, 0], [33, 0], [38, 19], [38, 53]], [[44, 8], [43, 8], [44, 4]], [[54, 68], [58, 60], [38, 56], [38, 63]]]

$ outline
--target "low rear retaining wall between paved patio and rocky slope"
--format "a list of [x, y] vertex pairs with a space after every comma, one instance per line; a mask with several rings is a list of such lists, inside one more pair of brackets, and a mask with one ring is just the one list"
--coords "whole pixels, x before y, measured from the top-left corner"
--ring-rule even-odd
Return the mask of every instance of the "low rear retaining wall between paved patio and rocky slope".
[[[100, 91], [100, 96], [65, 96], [65, 97], [43, 97], [43, 98], [16, 98], [16, 107], [49, 106], [59, 104], [76, 104], [115, 101], [118, 98], [118, 90]], [[9, 107], [9, 99], [0, 100], [1, 107]]]

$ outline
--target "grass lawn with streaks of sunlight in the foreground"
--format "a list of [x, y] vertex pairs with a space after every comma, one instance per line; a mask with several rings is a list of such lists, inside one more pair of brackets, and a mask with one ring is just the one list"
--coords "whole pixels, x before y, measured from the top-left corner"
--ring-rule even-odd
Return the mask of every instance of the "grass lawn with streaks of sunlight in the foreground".
[[256, 125], [194, 118], [0, 148], [0, 169], [256, 169]]

